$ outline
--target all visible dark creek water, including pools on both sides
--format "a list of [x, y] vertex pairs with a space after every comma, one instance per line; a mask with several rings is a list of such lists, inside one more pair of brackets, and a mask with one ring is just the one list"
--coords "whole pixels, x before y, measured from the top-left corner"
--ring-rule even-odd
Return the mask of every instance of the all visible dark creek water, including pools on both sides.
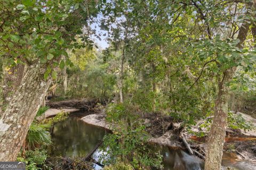
[[[84, 157], [108, 133], [103, 128], [84, 123], [80, 118], [79, 116], [71, 116], [67, 120], [54, 125], [52, 156]], [[191, 156], [183, 150], [157, 146], [156, 151], [163, 155], [165, 170], [200, 170], [204, 168], [204, 162], [201, 159]], [[95, 151], [93, 158], [97, 160], [100, 154], [98, 150]], [[222, 165], [235, 167], [239, 170], [256, 169], [256, 164], [239, 161], [234, 155], [227, 153], [223, 154]], [[101, 167], [95, 165], [94, 169], [101, 169]]]

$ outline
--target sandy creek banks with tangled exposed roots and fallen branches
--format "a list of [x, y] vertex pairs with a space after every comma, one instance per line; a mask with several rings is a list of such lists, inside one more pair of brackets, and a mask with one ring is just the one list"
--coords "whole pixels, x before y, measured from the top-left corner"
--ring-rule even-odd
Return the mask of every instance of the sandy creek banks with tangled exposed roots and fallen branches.
[[[61, 105], [60, 103], [65, 105]], [[67, 105], [67, 103], [67, 101], [61, 101], [58, 102], [58, 105], [53, 105], [56, 107], [59, 106], [61, 107], [61, 109], [51, 109], [50, 113], [45, 114], [46, 117], [47, 115], [52, 116], [54, 114], [57, 114], [57, 112], [59, 111], [66, 111], [72, 113], [73, 111], [77, 111], [77, 109], [83, 111], [83, 109], [85, 108], [70, 108], [70, 105]], [[72, 101], [71, 103], [74, 103], [74, 101]], [[68, 111], [63, 109], [71, 110]], [[90, 110], [93, 112], [81, 118], [83, 122], [111, 130], [111, 126], [105, 121], [106, 113], [104, 107], [94, 104], [93, 106], [90, 106]], [[241, 114], [246, 121], [251, 121], [254, 125], [256, 125], [256, 119], [254, 119], [250, 115], [246, 115], [243, 113], [239, 114]], [[175, 122], [171, 116], [162, 115], [160, 113], [148, 113], [145, 115], [141, 114], [140, 118], [143, 120], [147, 132], [151, 135], [151, 138], [148, 140], [149, 143], [156, 143], [157, 145], [161, 146], [169, 146], [171, 148], [182, 148], [187, 150], [188, 147], [185, 145], [185, 139], [188, 146], [191, 148], [191, 150], [193, 150], [193, 155], [204, 159], [205, 137], [198, 138], [195, 137], [195, 135], [191, 134], [191, 132], [188, 133], [186, 129], [181, 126], [181, 123]], [[200, 123], [200, 121], [198, 121], [198, 123]], [[202, 129], [199, 129], [198, 127], [199, 125], [196, 125], [192, 128], [192, 130], [195, 133], [202, 131]], [[256, 139], [255, 130], [244, 132], [242, 130], [227, 129], [226, 133], [227, 140], [225, 142], [223, 151], [235, 154], [237, 161], [248, 161], [250, 163], [256, 163], [256, 141], [254, 140]]]

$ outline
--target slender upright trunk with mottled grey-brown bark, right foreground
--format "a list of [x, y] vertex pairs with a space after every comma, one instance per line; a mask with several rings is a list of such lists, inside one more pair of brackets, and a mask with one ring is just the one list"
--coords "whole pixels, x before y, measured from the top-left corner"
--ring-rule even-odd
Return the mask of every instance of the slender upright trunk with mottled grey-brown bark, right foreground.
[[218, 83], [219, 92], [215, 101], [214, 118], [210, 134], [207, 140], [207, 153], [205, 158], [205, 170], [221, 169], [223, 144], [225, 142], [228, 113], [228, 91], [225, 83], [232, 78], [231, 69], [223, 73], [222, 80]]

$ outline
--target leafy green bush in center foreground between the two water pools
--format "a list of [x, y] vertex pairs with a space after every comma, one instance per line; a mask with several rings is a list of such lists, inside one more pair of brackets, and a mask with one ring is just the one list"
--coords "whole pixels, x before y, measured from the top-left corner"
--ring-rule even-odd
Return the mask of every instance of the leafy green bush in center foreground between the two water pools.
[[110, 105], [106, 120], [113, 125], [113, 134], [103, 139], [104, 164], [114, 166], [121, 160], [135, 169], [161, 167], [161, 155], [147, 145], [145, 126], [129, 104]]

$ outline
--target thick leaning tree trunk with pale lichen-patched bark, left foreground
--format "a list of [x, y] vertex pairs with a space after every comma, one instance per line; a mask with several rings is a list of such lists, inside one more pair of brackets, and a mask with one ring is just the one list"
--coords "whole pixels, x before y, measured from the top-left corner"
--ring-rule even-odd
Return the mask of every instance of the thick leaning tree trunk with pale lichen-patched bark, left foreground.
[[21, 86], [15, 91], [5, 112], [0, 117], [0, 161], [15, 161], [26, 138], [29, 126], [50, 86], [45, 81], [45, 69], [30, 66]]

